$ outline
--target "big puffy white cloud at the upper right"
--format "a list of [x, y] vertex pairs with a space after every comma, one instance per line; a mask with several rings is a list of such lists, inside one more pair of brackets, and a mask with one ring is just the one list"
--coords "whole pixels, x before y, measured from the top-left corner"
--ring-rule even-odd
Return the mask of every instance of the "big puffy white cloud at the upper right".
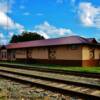
[[100, 7], [95, 7], [90, 2], [81, 2], [78, 13], [84, 26], [100, 28]]

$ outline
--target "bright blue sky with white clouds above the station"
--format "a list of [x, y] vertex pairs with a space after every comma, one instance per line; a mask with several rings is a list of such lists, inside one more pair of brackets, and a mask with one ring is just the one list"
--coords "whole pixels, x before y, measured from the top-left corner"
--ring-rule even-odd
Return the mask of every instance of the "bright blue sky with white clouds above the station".
[[0, 0], [0, 44], [14, 34], [100, 39], [100, 0]]

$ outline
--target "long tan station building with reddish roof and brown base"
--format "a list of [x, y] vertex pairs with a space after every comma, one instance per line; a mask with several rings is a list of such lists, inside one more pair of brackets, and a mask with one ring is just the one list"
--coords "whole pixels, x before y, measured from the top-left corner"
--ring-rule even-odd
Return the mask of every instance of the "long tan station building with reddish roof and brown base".
[[100, 44], [95, 38], [79, 36], [11, 43], [0, 47], [0, 60], [100, 66]]

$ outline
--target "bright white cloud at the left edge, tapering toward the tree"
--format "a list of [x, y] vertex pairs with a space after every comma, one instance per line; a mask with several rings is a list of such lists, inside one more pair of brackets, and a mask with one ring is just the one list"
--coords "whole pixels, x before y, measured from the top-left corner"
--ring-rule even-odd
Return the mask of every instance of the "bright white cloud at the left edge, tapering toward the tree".
[[0, 27], [3, 29], [20, 30], [24, 27], [19, 23], [14, 22], [13, 19], [7, 15], [7, 13], [11, 11], [11, 4], [13, 3], [13, 0], [9, 0], [9, 3], [10, 5], [8, 5], [7, 0], [0, 1]]

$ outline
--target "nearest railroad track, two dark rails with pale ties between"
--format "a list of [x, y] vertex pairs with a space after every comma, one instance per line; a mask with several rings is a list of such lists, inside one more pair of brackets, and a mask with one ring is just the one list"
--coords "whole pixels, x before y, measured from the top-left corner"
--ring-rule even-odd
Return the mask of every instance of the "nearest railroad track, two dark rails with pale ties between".
[[[56, 76], [53, 77], [52, 75], [52, 77], [45, 76], [47, 75], [46, 72], [36, 72], [7, 67], [0, 67], [0, 75], [20, 82], [30, 83], [32, 85], [46, 88], [51, 91], [75, 95], [89, 100], [100, 100], [99, 84], [94, 85], [79, 81], [69, 81], [61, 79], [62, 77], [58, 78]], [[58, 74], [56, 73], [56, 75]]]

